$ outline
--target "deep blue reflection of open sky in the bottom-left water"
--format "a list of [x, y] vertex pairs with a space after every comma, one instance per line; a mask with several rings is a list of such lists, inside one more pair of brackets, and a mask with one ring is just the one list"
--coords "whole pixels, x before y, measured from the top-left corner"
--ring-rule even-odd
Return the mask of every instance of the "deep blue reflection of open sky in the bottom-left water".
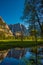
[[25, 65], [25, 63], [22, 60], [6, 57], [1, 65]]

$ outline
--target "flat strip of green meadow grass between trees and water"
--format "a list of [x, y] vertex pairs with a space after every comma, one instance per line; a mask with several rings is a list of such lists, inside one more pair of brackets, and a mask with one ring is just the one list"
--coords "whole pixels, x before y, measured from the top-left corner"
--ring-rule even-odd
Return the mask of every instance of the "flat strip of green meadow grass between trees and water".
[[37, 44], [35, 41], [11, 41], [11, 40], [3, 40], [0, 41], [0, 49], [10, 49], [15, 47], [35, 47], [35, 46], [42, 46], [43, 41], [38, 41]]

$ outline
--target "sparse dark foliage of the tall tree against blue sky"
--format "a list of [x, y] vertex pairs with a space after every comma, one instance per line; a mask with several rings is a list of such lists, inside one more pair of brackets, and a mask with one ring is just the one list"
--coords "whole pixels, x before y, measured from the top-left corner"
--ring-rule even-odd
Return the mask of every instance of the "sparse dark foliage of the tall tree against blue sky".
[[[31, 24], [29, 26], [29, 28], [30, 28], [29, 31], [30, 32], [34, 29], [34, 30], [39, 31], [38, 33], [40, 33], [40, 30], [41, 30], [40, 35], [41, 34], [43, 35], [43, 29], [41, 27], [41, 21], [40, 21], [41, 18], [39, 18], [39, 14], [41, 14], [39, 12], [39, 11], [41, 11], [39, 4], [41, 4], [41, 0], [40, 1], [39, 0], [36, 0], [36, 1], [35, 0], [25, 0], [25, 5], [24, 5], [24, 11], [23, 11], [23, 17], [22, 17], [22, 19], [25, 22], [29, 23], [29, 25]], [[37, 5], [39, 5], [39, 7]], [[38, 27], [40, 27], [40, 30], [37, 29], [36, 24], [38, 25]], [[34, 32], [34, 36], [35, 36], [35, 38], [37, 38], [36, 32]]]

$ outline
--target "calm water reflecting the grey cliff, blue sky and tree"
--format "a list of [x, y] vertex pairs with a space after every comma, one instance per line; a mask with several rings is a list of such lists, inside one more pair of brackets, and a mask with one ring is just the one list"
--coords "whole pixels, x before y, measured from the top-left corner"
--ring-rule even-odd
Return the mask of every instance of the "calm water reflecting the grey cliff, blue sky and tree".
[[14, 48], [7, 52], [0, 65], [36, 65], [36, 59], [37, 65], [43, 65], [43, 48], [37, 49], [37, 58], [33, 48]]

